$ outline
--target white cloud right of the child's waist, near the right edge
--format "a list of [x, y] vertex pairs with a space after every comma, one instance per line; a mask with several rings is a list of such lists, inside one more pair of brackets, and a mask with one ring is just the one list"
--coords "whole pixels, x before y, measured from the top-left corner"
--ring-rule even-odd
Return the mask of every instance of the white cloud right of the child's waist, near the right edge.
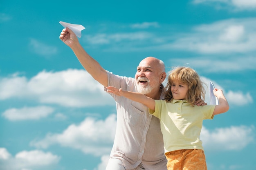
[[254, 126], [231, 126], [207, 130], [202, 128], [200, 139], [207, 150], [242, 150], [254, 141]]

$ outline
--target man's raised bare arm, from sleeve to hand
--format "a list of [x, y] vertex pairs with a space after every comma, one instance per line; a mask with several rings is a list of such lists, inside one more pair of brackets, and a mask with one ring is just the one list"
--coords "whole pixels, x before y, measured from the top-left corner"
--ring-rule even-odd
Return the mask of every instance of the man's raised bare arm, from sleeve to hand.
[[69, 46], [76, 55], [83, 68], [103, 86], [108, 86], [108, 75], [104, 68], [94, 60], [79, 43], [76, 35], [68, 28], [63, 29], [60, 39]]

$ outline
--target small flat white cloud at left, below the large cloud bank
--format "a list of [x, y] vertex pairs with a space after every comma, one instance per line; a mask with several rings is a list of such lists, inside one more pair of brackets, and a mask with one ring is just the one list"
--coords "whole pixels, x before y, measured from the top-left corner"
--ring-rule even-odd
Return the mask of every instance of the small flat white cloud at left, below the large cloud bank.
[[47, 117], [54, 112], [54, 108], [48, 106], [10, 108], [2, 113], [2, 116], [11, 121], [38, 120]]

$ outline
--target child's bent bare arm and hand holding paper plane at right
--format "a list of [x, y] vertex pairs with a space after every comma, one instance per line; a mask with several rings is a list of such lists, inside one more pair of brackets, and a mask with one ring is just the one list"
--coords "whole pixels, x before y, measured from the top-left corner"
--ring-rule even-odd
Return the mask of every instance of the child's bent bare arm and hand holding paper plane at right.
[[226, 97], [224, 96], [221, 89], [213, 89], [213, 94], [218, 97], [219, 105], [216, 105], [213, 111], [213, 115], [218, 115], [220, 113], [225, 113], [229, 110], [229, 103], [227, 102]]

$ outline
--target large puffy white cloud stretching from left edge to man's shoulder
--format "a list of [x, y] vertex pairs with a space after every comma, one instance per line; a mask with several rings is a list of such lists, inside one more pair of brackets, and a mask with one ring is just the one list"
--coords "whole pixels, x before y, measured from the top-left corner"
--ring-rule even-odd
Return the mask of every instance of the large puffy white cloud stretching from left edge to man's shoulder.
[[76, 69], [42, 71], [29, 80], [16, 74], [0, 79], [0, 100], [17, 97], [66, 107], [115, 104], [87, 71]]

